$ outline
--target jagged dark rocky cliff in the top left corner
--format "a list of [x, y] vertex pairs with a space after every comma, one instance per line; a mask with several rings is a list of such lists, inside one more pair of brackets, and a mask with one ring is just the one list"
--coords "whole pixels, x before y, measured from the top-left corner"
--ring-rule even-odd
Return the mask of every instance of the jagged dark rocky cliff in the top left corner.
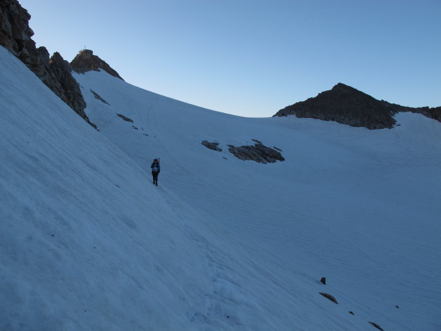
[[[90, 123], [84, 112], [86, 103], [72, 77], [68, 61], [58, 52], [49, 57], [44, 47], [36, 48], [29, 27], [30, 14], [17, 0], [0, 0], [0, 45], [20, 59], [52, 92]], [[90, 125], [96, 126], [93, 123]]]

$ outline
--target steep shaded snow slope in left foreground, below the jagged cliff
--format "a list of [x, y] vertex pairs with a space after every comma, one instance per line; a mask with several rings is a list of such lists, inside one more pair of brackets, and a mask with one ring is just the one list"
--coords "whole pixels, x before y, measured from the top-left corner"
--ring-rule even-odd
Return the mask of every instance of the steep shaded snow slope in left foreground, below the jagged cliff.
[[0, 60], [2, 330], [362, 330]]

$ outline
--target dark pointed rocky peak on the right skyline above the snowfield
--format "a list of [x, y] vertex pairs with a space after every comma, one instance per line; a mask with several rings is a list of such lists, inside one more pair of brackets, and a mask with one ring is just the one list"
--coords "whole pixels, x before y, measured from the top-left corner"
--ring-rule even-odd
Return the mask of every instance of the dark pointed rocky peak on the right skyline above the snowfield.
[[393, 128], [396, 123], [393, 115], [397, 112], [416, 112], [441, 121], [441, 107], [404, 107], [377, 100], [343, 83], [338, 83], [331, 90], [319, 93], [317, 97], [287, 106], [274, 114], [274, 117], [295, 115], [301, 118], [335, 121], [348, 126], [375, 130]]

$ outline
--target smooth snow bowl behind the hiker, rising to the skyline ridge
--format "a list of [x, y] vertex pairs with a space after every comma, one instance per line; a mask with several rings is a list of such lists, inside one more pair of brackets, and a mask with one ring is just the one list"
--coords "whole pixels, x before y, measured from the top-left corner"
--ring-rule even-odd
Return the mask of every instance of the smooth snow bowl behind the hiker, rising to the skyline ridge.
[[[337, 309], [356, 313], [356, 326], [345, 318], [335, 328], [365, 330], [369, 319], [384, 330], [441, 325], [433, 278], [441, 271], [440, 123], [404, 113], [393, 130], [370, 131], [313, 119], [245, 119], [105, 72], [74, 77], [101, 133], [147, 171], [161, 157], [160, 185], [267, 266], [289, 295], [317, 293], [324, 290], [317, 280], [331, 279], [325, 290], [340, 299]], [[286, 161], [261, 165], [228, 152], [228, 145], [252, 139], [280, 148]], [[223, 151], [205, 148], [203, 140], [217, 141]], [[302, 321], [297, 303], [290, 310], [289, 319]], [[317, 323], [306, 329], [329, 327]]]

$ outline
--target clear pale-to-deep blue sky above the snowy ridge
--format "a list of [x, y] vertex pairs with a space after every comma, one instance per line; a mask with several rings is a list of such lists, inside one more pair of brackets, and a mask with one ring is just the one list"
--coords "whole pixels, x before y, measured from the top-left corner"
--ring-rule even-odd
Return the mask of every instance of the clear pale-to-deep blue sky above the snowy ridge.
[[336, 83], [441, 106], [441, 0], [19, 0], [37, 46], [87, 48], [125, 81], [246, 117]]

